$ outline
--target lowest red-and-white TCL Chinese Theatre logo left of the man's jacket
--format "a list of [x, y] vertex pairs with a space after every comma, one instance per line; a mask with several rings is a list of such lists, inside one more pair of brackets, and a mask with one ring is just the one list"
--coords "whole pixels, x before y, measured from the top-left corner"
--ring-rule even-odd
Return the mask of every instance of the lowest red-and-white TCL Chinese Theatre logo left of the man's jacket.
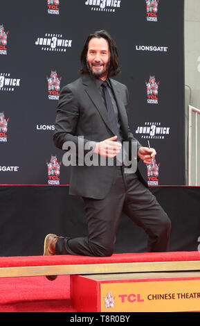
[[60, 166], [57, 156], [51, 154], [50, 162], [46, 162], [48, 169], [48, 185], [60, 185]]

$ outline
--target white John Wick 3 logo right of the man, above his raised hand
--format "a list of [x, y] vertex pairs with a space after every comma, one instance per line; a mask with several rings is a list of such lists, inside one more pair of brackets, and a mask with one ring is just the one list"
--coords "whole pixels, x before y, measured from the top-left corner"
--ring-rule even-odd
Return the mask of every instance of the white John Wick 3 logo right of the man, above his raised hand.
[[170, 127], [163, 127], [161, 122], [146, 121], [143, 126], [137, 126], [135, 132], [142, 139], [165, 139], [170, 135]]

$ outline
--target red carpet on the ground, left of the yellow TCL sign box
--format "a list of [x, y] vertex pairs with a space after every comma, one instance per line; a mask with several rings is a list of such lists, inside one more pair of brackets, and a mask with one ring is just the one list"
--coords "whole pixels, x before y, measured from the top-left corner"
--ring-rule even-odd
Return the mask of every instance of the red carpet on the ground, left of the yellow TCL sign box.
[[72, 312], [69, 276], [0, 278], [0, 312]]

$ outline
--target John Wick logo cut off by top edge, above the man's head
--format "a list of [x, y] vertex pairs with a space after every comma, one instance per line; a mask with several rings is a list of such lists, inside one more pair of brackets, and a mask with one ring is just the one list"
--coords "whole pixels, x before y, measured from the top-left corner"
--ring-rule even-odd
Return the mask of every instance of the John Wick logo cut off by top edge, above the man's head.
[[93, 11], [116, 12], [120, 8], [121, 0], [87, 0], [85, 5], [90, 6]]

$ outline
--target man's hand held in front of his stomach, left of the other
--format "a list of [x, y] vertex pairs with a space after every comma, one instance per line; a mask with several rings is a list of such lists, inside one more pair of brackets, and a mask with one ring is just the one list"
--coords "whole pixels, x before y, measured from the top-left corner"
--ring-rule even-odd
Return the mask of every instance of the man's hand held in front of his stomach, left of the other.
[[113, 136], [96, 143], [93, 153], [106, 157], [116, 157], [122, 147], [122, 144], [118, 143], [116, 139], [117, 136]]

